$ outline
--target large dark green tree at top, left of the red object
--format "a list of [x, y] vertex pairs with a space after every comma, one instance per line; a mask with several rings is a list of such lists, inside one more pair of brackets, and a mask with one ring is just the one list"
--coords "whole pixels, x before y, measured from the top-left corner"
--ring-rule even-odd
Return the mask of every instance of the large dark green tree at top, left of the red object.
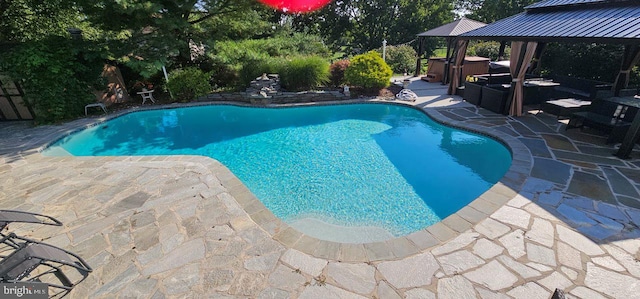
[[106, 36], [110, 49], [143, 75], [173, 61], [191, 63], [193, 49], [213, 40], [247, 38], [272, 30], [262, 21], [270, 10], [253, 0], [79, 1]]

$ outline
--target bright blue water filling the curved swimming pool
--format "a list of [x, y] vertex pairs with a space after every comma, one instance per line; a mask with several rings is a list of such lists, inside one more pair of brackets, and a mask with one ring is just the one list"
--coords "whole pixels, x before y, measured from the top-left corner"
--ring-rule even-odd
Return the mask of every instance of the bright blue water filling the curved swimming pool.
[[455, 213], [511, 164], [491, 138], [388, 104], [142, 111], [66, 137], [44, 154], [59, 148], [74, 156], [209, 156], [285, 222], [378, 227], [393, 236]]

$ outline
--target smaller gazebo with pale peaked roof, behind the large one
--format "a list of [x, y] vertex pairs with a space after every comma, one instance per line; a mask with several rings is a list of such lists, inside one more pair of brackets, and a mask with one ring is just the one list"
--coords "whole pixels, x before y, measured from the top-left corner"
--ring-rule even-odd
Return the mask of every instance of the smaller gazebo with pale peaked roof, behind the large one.
[[[462, 17], [457, 21], [453, 21], [451, 23], [448, 23], [440, 27], [418, 34], [418, 61], [416, 62], [416, 72], [414, 76], [416, 77], [420, 76], [420, 67], [422, 62], [420, 59], [420, 55], [422, 55], [422, 52], [424, 51], [423, 48], [424, 48], [425, 38], [444, 37], [447, 42], [447, 54], [446, 54], [445, 60], [449, 62], [449, 59], [451, 58], [450, 49], [453, 46], [456, 40], [456, 37], [458, 37], [460, 34], [469, 32], [471, 30], [480, 28], [485, 25], [487, 24]], [[444, 65], [445, 80], [443, 82], [446, 82], [446, 76], [448, 74], [449, 74], [449, 63], [445, 63]]]

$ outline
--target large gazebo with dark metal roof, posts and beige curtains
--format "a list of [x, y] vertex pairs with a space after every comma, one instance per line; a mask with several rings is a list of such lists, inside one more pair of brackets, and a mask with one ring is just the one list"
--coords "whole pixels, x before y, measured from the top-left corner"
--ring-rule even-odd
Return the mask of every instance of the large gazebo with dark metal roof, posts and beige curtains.
[[[511, 41], [510, 115], [522, 115], [524, 77], [527, 66], [538, 63], [549, 42], [608, 43], [625, 47], [620, 71], [613, 84], [617, 96], [629, 83], [631, 68], [640, 60], [640, 2], [637, 0], [546, 0], [525, 8], [523, 13], [458, 36], [454, 55], [452, 94], [459, 86], [460, 68], [470, 39]], [[533, 62], [532, 62], [533, 60]], [[509, 102], [508, 102], [509, 103]], [[640, 114], [639, 114], [640, 115]], [[640, 133], [640, 118], [632, 124], [622, 147], [633, 147]]]

